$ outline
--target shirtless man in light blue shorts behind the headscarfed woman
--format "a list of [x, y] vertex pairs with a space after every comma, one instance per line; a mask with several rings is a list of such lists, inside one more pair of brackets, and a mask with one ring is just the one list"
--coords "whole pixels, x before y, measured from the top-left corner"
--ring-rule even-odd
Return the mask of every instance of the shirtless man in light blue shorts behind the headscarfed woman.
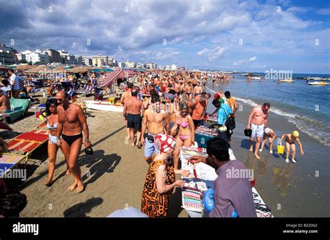
[[[160, 103], [159, 95], [152, 95], [151, 105], [143, 114], [141, 143], [146, 145], [144, 148], [144, 157], [148, 163], [151, 161], [153, 152], [155, 151], [155, 135], [163, 134], [166, 125], [166, 132], [170, 132], [170, 123], [168, 113], [164, 111], [164, 107]], [[143, 134], [148, 128], [148, 135], [146, 140]]]

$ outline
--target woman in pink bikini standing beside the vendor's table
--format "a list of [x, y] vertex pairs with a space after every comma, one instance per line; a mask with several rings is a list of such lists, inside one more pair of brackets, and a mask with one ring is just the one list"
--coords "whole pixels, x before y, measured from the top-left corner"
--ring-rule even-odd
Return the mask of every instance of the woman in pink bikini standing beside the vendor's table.
[[179, 127], [179, 134], [176, 137], [176, 149], [173, 154], [174, 169], [178, 169], [179, 166], [180, 147], [182, 147], [182, 145], [190, 147], [195, 144], [195, 126], [191, 115], [189, 115], [188, 105], [185, 102], [181, 102], [179, 110], [180, 111], [175, 116], [176, 124], [171, 129], [171, 135], [174, 136], [176, 134], [176, 129]]

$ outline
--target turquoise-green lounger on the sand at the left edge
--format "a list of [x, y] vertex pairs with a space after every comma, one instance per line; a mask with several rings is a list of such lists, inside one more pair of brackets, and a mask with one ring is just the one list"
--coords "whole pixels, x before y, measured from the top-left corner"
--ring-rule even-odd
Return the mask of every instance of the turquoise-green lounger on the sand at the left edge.
[[10, 99], [10, 109], [13, 109], [13, 111], [10, 111], [10, 113], [1, 113], [0, 120], [3, 119], [5, 122], [6, 122], [6, 120], [10, 120], [10, 122], [13, 122], [17, 118], [24, 115], [24, 113], [26, 113], [27, 109], [29, 109], [29, 106], [30, 106], [30, 99], [11, 98]]

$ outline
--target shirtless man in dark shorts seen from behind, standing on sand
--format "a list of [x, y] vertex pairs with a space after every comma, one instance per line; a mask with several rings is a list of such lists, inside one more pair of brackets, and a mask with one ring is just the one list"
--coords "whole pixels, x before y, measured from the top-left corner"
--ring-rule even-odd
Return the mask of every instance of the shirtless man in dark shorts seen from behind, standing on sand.
[[137, 98], [138, 91], [136, 89], [131, 91], [132, 97], [125, 100], [123, 115], [127, 119], [127, 127], [129, 128], [129, 137], [131, 138], [131, 146], [134, 147], [134, 131], [136, 131], [136, 145], [141, 148], [141, 109], [142, 101]]

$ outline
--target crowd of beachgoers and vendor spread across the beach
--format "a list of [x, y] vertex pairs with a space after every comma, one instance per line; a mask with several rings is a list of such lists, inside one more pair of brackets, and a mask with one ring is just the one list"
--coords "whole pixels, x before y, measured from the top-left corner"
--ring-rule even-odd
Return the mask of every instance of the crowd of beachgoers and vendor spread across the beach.
[[[14, 86], [15, 74], [9, 71], [10, 84]], [[88, 75], [91, 83], [97, 85], [95, 74]], [[141, 149], [144, 146], [144, 157], [149, 164], [143, 186], [141, 211], [150, 217], [164, 217], [168, 214], [168, 203], [175, 186], [183, 186], [184, 181], [175, 180], [175, 174], [189, 176], [187, 170], [180, 169], [180, 147], [191, 147], [195, 143], [195, 131], [199, 126], [205, 125], [207, 108], [212, 95], [207, 93], [206, 83], [211, 80], [228, 81], [230, 77], [223, 74], [206, 74], [189, 71], [148, 71], [137, 76], [139, 84], [127, 83], [127, 89], [121, 95], [123, 104], [123, 117], [127, 129], [127, 141], [131, 147]], [[29, 76], [26, 77], [29, 80]], [[68, 76], [69, 81], [77, 77]], [[29, 84], [26, 84], [26, 87]], [[28, 88], [26, 88], [28, 90]], [[53, 92], [49, 92], [54, 96]], [[50, 97], [49, 96], [49, 97]], [[228, 179], [226, 169], [244, 169], [240, 161], [230, 161], [228, 150], [231, 143], [233, 129], [235, 129], [235, 116], [237, 115], [237, 102], [227, 90], [220, 89], [214, 95], [212, 105], [215, 108], [208, 116], [215, 116], [217, 120], [207, 127], [216, 128], [218, 136], [207, 141], [207, 158], [191, 157], [189, 162], [196, 164], [204, 162], [212, 166], [218, 175], [214, 184], [214, 209], [210, 216], [228, 217], [237, 211], [241, 217], [255, 217], [251, 184], [246, 178]], [[10, 109], [10, 106], [9, 106]], [[46, 102], [47, 128], [49, 129], [48, 156], [49, 174], [45, 181], [46, 186], [52, 186], [53, 175], [56, 168], [56, 154], [61, 149], [67, 163], [67, 175], [72, 175], [73, 183], [68, 191], [77, 189], [77, 193], [84, 191], [81, 180], [81, 170], [77, 163], [81, 145], [84, 144], [86, 154], [92, 154], [89, 130], [86, 124], [84, 111], [77, 104], [70, 101], [70, 96], [64, 90], [58, 91], [55, 98]], [[258, 152], [262, 152], [266, 142], [269, 151], [276, 134], [267, 127], [270, 104], [253, 108], [246, 125], [246, 136], [250, 136], [250, 151], [256, 146], [254, 156], [260, 159]], [[0, 111], [8, 110], [8, 99], [0, 92]], [[210, 110], [210, 109], [209, 109]], [[295, 163], [295, 147], [297, 141], [304, 154], [299, 133], [283, 134], [287, 147], [286, 159], [292, 151], [292, 161]], [[261, 147], [260, 147], [261, 145]], [[226, 184], [223, 184], [225, 182]]]

